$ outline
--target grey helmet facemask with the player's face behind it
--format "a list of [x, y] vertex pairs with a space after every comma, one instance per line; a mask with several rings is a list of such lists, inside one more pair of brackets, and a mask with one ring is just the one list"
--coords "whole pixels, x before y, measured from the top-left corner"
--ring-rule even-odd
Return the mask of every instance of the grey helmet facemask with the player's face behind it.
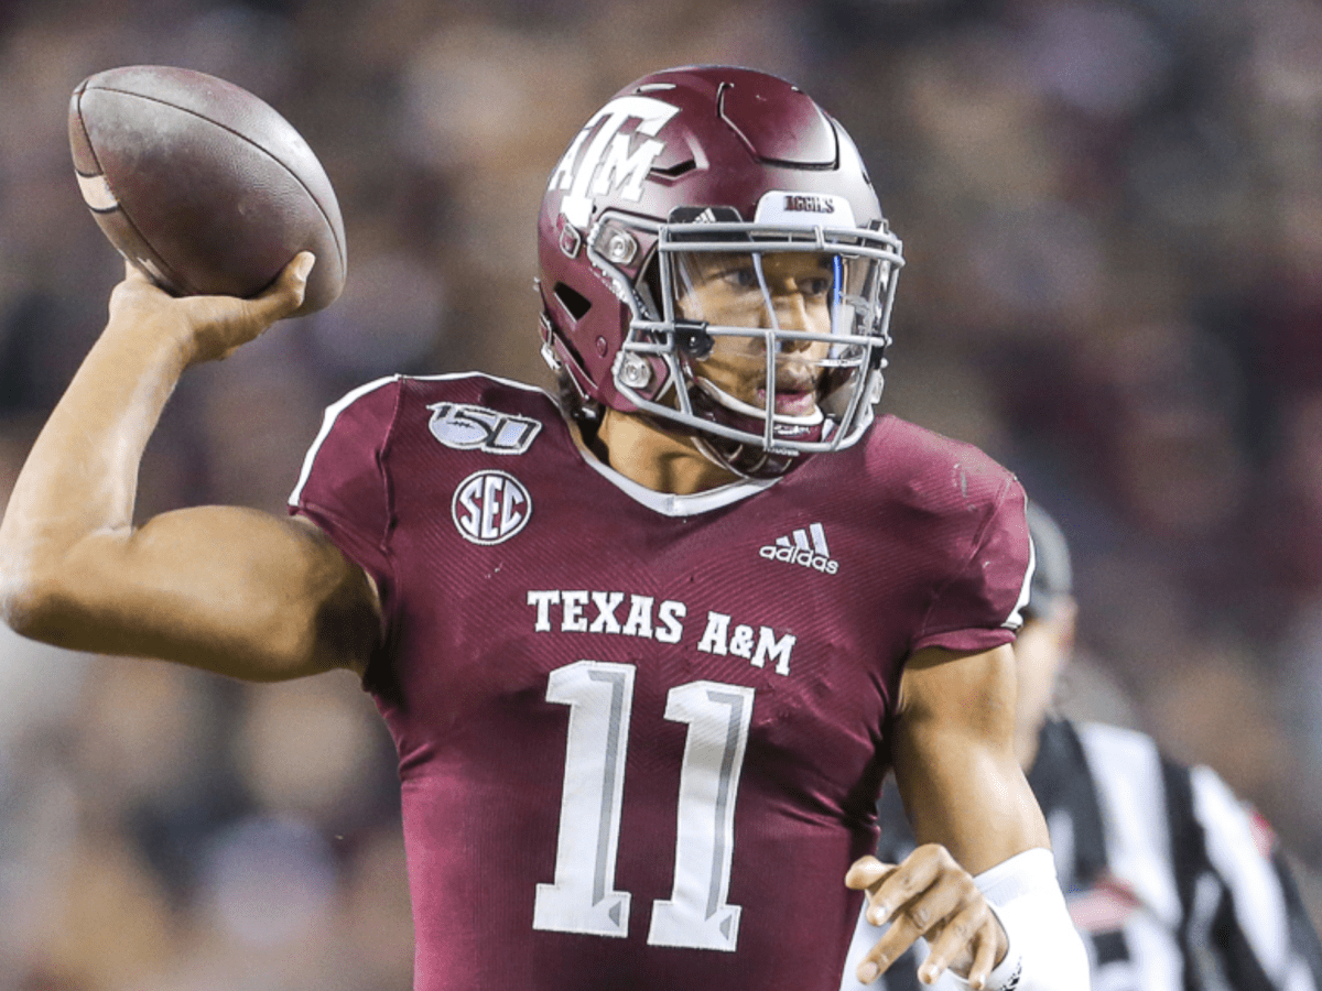
[[[847, 225], [847, 203], [834, 207]], [[773, 477], [854, 444], [871, 422], [903, 262], [883, 225], [731, 214], [682, 209], [656, 230], [615, 383], [722, 466]]]

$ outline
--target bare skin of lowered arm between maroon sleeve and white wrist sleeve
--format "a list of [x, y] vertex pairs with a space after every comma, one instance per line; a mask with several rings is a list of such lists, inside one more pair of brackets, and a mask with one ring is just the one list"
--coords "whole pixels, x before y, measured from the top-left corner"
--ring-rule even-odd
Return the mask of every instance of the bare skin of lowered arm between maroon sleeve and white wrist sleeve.
[[910, 658], [892, 723], [895, 780], [919, 843], [940, 843], [972, 873], [1032, 847], [1046, 823], [1014, 753], [1009, 646], [940, 647]]

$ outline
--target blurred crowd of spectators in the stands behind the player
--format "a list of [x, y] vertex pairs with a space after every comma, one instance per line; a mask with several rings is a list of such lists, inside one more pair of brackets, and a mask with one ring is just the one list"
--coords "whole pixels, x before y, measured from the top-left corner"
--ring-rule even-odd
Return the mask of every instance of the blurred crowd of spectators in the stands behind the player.
[[[857, 139], [908, 266], [883, 407], [1069, 536], [1068, 712], [1219, 770], [1322, 895], [1322, 8], [1313, 0], [5, 0], [0, 505], [122, 266], [69, 94], [168, 63], [267, 99], [340, 196], [329, 311], [190, 373], [141, 513], [283, 511], [393, 373], [546, 383], [535, 210], [644, 73], [736, 62]], [[0, 988], [407, 988], [393, 752], [354, 679], [251, 688], [0, 632]]]

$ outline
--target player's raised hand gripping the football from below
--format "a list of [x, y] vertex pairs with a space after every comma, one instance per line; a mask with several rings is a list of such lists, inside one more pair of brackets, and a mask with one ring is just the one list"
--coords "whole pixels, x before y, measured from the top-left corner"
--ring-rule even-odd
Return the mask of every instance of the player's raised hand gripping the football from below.
[[276, 280], [253, 299], [171, 296], [130, 263], [110, 295], [110, 326], [149, 329], [178, 338], [185, 365], [217, 361], [259, 337], [303, 304], [316, 258], [300, 251]]

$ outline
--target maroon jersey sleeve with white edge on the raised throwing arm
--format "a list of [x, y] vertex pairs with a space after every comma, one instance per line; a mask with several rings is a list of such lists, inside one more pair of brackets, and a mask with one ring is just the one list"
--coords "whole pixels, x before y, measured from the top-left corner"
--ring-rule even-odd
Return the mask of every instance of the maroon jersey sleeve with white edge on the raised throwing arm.
[[391, 518], [385, 459], [399, 391], [398, 378], [377, 379], [328, 407], [290, 494], [290, 513], [316, 523], [382, 589]]

